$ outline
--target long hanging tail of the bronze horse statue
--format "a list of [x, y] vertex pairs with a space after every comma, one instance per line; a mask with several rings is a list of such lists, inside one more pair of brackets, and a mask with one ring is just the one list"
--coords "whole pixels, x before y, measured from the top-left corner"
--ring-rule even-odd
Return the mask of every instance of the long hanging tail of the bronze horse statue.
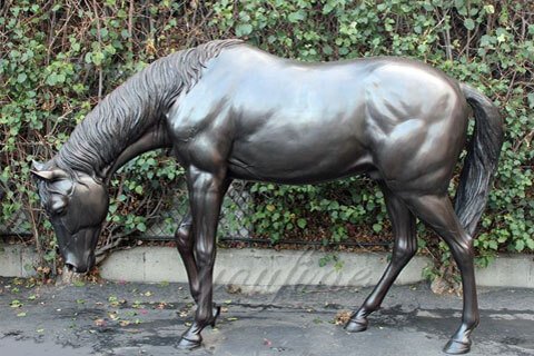
[[467, 147], [454, 209], [467, 234], [474, 236], [497, 170], [504, 126], [497, 107], [486, 96], [465, 83], [461, 83], [461, 88], [473, 108], [475, 128]]

